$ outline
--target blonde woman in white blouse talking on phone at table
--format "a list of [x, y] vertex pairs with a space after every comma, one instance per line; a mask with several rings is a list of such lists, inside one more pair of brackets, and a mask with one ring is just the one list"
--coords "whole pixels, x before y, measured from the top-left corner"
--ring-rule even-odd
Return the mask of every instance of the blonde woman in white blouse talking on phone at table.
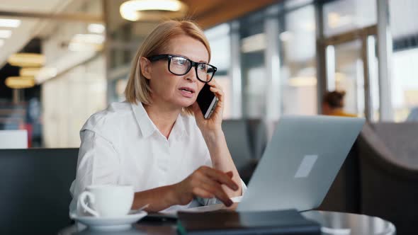
[[[91, 184], [133, 185], [132, 209], [149, 204], [149, 212], [191, 207], [194, 198], [230, 206], [230, 197], [242, 195], [221, 129], [224, 93], [209, 61], [208, 40], [195, 23], [157, 25], [137, 51], [126, 101], [92, 115], [80, 131], [70, 210]], [[205, 83], [219, 99], [208, 120], [196, 104]]]

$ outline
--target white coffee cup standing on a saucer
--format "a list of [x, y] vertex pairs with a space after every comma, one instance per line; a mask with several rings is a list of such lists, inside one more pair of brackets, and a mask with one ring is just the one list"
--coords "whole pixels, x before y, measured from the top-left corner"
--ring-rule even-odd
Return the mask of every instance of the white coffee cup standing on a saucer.
[[79, 195], [77, 209], [86, 210], [94, 217], [120, 217], [130, 211], [133, 195], [131, 185], [90, 185]]

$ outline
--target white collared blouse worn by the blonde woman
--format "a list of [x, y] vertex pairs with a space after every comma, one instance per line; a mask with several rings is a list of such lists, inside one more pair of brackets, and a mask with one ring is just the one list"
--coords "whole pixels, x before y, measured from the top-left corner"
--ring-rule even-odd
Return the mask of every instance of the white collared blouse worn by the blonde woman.
[[[200, 166], [212, 166], [208, 147], [191, 115], [180, 114], [166, 139], [141, 103], [111, 103], [91, 115], [80, 131], [77, 175], [70, 211], [88, 185], [133, 185], [135, 192], [179, 183]], [[242, 183], [242, 192], [246, 190]], [[216, 203], [199, 200], [200, 205]], [[196, 206], [176, 205], [169, 210]]]

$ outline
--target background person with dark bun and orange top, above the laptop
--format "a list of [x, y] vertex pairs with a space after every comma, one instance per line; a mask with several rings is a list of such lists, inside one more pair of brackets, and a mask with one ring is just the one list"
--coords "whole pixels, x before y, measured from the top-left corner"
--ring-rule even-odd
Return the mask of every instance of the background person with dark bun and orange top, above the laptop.
[[344, 96], [345, 91], [327, 91], [322, 97], [322, 114], [343, 116], [343, 117], [356, 117], [351, 113], [345, 113], [344, 108]]

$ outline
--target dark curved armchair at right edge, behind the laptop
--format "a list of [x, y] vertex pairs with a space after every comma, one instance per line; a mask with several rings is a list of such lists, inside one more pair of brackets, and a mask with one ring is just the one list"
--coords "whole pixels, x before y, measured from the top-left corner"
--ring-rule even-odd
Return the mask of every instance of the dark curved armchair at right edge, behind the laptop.
[[417, 234], [418, 123], [377, 123], [359, 144], [361, 212], [388, 219], [397, 234]]

